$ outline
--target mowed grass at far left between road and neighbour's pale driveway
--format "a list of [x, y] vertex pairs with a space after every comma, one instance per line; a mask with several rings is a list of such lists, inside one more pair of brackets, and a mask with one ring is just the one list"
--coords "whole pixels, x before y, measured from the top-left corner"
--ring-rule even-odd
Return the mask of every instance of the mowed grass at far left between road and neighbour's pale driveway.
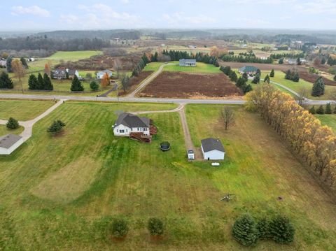
[[0, 100], [0, 120], [32, 120], [55, 104], [54, 101]]

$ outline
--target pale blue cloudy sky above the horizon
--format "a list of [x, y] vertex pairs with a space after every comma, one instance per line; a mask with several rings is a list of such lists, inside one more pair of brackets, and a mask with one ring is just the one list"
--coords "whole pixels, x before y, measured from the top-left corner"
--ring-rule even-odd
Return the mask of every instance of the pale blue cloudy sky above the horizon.
[[11, 0], [0, 1], [0, 10], [3, 31], [336, 29], [336, 0]]

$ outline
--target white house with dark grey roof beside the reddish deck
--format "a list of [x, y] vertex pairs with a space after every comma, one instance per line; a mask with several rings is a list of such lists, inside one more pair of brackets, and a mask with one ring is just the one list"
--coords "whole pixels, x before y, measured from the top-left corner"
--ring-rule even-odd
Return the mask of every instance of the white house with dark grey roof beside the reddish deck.
[[113, 125], [115, 136], [133, 136], [134, 134], [151, 136], [148, 117], [138, 117], [131, 113], [122, 113]]

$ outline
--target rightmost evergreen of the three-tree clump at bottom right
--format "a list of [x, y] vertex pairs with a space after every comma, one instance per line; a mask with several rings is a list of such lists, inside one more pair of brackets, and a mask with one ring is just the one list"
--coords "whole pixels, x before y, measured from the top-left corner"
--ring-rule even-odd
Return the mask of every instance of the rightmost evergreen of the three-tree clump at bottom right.
[[269, 234], [276, 243], [288, 244], [294, 241], [295, 229], [287, 217], [279, 215], [269, 222]]

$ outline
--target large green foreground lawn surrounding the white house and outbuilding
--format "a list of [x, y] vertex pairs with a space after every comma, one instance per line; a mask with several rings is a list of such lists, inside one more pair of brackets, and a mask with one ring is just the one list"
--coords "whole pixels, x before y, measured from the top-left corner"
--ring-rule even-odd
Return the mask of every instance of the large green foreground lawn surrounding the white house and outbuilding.
[[[335, 249], [335, 205], [258, 115], [237, 108], [237, 126], [225, 131], [222, 106], [187, 106], [195, 145], [222, 139], [227, 159], [219, 168], [186, 161], [177, 113], [148, 115], [158, 127], [152, 144], [113, 136], [117, 111], [175, 107], [67, 102], [39, 121], [29, 141], [0, 157], [0, 249], [239, 250], [230, 229], [245, 212], [286, 213], [297, 228], [295, 243], [266, 241], [255, 250]], [[66, 128], [52, 138], [46, 129], [56, 119]], [[160, 152], [162, 141], [169, 152]], [[220, 201], [226, 192], [237, 198]], [[130, 225], [122, 243], [106, 236], [116, 216]], [[153, 216], [167, 226], [160, 243], [146, 231]]]

